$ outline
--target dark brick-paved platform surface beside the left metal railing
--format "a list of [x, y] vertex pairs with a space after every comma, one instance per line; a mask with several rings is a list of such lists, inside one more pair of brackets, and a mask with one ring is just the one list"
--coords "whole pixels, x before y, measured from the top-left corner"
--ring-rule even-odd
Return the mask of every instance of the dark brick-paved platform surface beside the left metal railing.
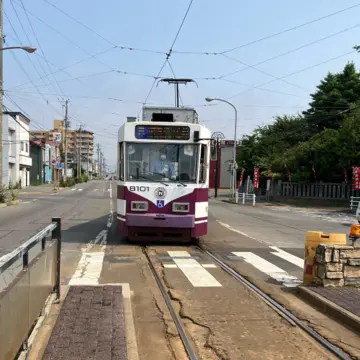
[[121, 286], [72, 286], [43, 360], [127, 360]]

